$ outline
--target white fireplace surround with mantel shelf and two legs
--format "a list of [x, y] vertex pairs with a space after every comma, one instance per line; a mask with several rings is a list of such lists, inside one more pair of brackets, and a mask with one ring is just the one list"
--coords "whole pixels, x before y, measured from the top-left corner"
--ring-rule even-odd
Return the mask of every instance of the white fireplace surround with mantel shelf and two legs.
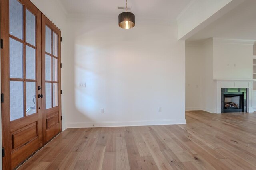
[[221, 113], [221, 88], [248, 88], [247, 112], [253, 113], [252, 88], [254, 80], [215, 80], [217, 82], [217, 113]]

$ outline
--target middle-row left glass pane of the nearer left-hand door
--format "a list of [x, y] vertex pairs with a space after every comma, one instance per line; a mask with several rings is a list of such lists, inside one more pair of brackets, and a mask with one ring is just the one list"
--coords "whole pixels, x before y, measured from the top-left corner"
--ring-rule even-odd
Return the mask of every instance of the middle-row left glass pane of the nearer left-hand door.
[[23, 78], [23, 44], [10, 38], [10, 78]]

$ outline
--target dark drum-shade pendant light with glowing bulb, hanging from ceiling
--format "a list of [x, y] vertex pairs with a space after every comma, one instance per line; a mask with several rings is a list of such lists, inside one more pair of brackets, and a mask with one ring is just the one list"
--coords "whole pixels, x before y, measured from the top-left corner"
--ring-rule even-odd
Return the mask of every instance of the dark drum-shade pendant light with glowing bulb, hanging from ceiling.
[[135, 15], [132, 12], [127, 12], [127, 0], [126, 0], [126, 12], [122, 12], [118, 16], [119, 27], [124, 29], [130, 29], [135, 26]]

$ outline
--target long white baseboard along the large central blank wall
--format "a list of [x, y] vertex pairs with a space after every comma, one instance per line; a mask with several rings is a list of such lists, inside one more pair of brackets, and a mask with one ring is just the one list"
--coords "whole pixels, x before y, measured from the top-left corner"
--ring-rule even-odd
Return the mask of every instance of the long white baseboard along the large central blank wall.
[[150, 125], [179, 125], [186, 124], [185, 119], [151, 120], [151, 121], [113, 121], [113, 122], [72, 122], [67, 128], [81, 127], [123, 127], [123, 126], [150, 126]]

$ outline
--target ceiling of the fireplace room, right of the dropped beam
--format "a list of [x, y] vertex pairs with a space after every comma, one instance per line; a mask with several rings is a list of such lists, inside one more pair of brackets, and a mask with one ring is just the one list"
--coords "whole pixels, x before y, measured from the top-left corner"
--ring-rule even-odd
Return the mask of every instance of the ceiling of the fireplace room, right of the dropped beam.
[[200, 41], [210, 37], [256, 40], [256, 0], [246, 0], [187, 41]]

